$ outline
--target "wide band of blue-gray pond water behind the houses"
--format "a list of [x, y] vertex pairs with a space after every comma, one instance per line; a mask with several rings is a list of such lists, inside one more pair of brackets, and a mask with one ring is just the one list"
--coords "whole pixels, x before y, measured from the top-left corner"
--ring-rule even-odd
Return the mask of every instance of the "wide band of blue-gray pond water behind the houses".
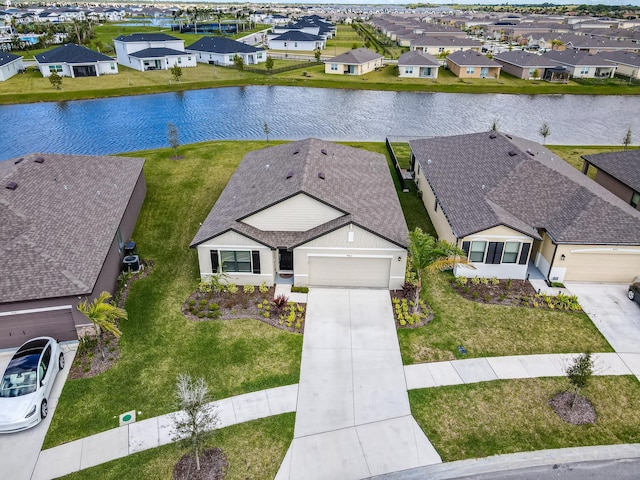
[[318, 137], [384, 141], [501, 131], [547, 143], [622, 145], [640, 136], [640, 97], [379, 92], [230, 87], [70, 102], [0, 106], [0, 160], [30, 152], [110, 153], [215, 139]]

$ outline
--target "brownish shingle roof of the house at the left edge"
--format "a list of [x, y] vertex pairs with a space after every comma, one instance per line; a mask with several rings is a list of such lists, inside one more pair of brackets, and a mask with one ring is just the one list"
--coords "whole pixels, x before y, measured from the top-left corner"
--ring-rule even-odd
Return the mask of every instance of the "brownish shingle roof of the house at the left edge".
[[[144, 159], [22, 158], [18, 164], [18, 159], [0, 162], [0, 302], [88, 294]], [[9, 182], [17, 188], [5, 188]]]

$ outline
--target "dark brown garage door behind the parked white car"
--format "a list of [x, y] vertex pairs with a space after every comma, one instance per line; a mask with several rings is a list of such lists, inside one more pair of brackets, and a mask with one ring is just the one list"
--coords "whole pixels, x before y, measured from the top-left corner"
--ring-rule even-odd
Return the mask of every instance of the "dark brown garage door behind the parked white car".
[[71, 310], [0, 316], [0, 348], [19, 347], [30, 338], [40, 336], [76, 340]]

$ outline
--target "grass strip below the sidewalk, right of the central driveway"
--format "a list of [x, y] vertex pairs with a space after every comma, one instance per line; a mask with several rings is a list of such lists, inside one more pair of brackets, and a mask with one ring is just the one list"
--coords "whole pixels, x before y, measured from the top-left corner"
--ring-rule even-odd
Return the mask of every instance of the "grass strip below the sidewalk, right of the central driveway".
[[442, 460], [550, 448], [640, 442], [635, 377], [592, 377], [582, 390], [597, 413], [593, 425], [564, 422], [549, 400], [568, 389], [565, 378], [493, 381], [412, 390], [414, 418]]

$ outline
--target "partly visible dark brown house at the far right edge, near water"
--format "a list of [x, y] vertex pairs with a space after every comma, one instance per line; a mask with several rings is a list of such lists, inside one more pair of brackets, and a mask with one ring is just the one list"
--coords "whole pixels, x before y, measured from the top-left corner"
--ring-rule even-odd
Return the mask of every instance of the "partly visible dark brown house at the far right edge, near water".
[[640, 150], [583, 155], [582, 173], [596, 167], [595, 181], [640, 210]]

